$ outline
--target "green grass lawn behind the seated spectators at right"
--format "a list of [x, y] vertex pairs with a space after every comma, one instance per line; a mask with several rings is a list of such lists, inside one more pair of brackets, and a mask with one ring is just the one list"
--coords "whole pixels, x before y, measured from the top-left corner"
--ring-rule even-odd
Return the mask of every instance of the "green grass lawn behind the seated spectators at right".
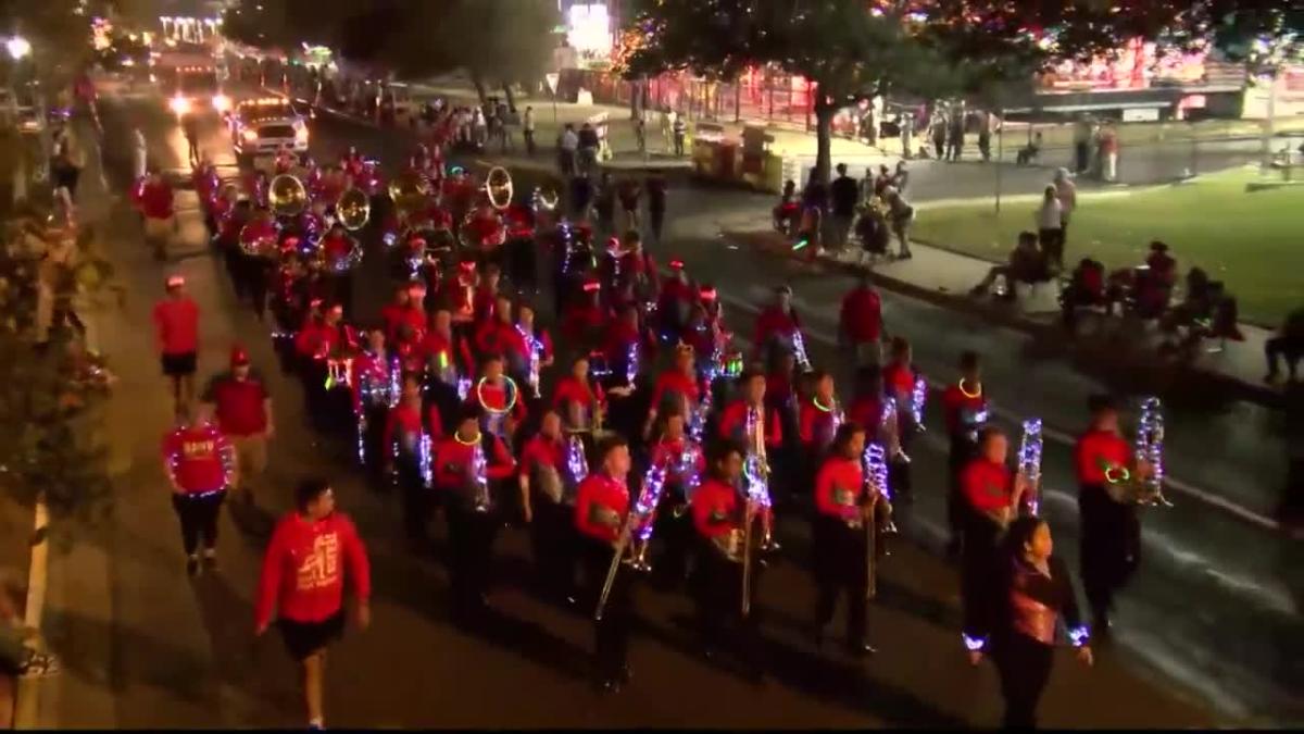
[[[1234, 170], [1194, 183], [1132, 196], [1080, 196], [1065, 264], [1084, 255], [1118, 268], [1141, 263], [1151, 239], [1168, 243], [1183, 274], [1194, 265], [1222, 279], [1240, 300], [1241, 319], [1275, 327], [1304, 306], [1304, 187], [1245, 192], [1260, 180]], [[991, 201], [927, 208], [914, 235], [985, 260], [1005, 261], [1021, 230], [1033, 230], [1035, 204]]]

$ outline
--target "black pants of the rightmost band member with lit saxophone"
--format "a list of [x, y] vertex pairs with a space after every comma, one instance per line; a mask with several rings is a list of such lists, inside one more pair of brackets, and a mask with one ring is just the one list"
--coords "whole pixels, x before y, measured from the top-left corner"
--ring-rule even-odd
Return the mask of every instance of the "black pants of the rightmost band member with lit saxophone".
[[1084, 486], [1078, 492], [1082, 590], [1101, 618], [1141, 563], [1141, 522], [1136, 504], [1114, 502], [1101, 486]]

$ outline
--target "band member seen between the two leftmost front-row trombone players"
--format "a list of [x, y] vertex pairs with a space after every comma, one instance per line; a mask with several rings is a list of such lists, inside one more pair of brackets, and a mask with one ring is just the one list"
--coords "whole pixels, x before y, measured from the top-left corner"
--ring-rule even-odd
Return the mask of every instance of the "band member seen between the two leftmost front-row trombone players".
[[665, 541], [664, 552], [656, 571], [665, 588], [674, 588], [689, 569], [689, 545], [692, 537], [686, 509], [692, 490], [705, 470], [702, 447], [689, 438], [687, 417], [672, 406], [661, 418], [661, 435], [649, 452], [651, 466], [665, 470], [661, 504], [656, 511], [656, 537]]

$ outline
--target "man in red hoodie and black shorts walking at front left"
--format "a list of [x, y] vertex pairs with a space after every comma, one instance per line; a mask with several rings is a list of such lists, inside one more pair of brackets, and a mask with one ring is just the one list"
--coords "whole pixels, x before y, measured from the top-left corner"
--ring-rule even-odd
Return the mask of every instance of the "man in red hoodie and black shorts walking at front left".
[[357, 599], [357, 627], [372, 622], [372, 568], [353, 522], [335, 512], [325, 479], [305, 479], [295, 490], [296, 512], [276, 525], [262, 562], [256, 633], [279, 611], [276, 626], [289, 656], [303, 666], [308, 727], [322, 729], [322, 677], [326, 646], [344, 632], [344, 575]]

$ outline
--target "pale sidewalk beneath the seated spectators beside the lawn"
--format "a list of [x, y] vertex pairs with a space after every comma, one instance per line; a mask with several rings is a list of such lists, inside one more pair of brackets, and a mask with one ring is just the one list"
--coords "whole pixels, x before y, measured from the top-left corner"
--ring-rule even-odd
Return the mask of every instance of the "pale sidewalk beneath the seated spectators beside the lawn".
[[[794, 253], [792, 243], [771, 230], [732, 229], [724, 236], [768, 255], [801, 260], [811, 257], [806, 252]], [[891, 248], [896, 248], [895, 242]], [[849, 246], [844, 253], [820, 253], [818, 261], [824, 266], [861, 273], [865, 266], [859, 265], [859, 247]], [[1264, 342], [1273, 336], [1267, 329], [1240, 324], [1245, 341], [1228, 341], [1221, 353], [1201, 353], [1189, 366], [1164, 364], [1155, 354], [1162, 334], [1153, 325], [1141, 333], [1121, 334], [1118, 330], [1121, 324], [1119, 319], [1084, 313], [1077, 336], [1069, 337], [1059, 323], [1059, 289], [1055, 283], [1033, 287], [1020, 285], [1018, 303], [1007, 306], [991, 296], [969, 295], [969, 290], [983, 279], [992, 263], [915, 240], [911, 240], [910, 252], [910, 260], [879, 260], [872, 264], [868, 272], [874, 281], [885, 289], [1034, 333], [1065, 350], [1099, 353], [1102, 357], [1107, 353], [1114, 360], [1127, 363], [1131, 370], [1174, 371], [1171, 376], [1185, 377], [1201, 387], [1222, 388], [1270, 406], [1282, 405], [1283, 392], [1262, 381]], [[1119, 337], [1124, 337], [1127, 343], [1120, 342]], [[1189, 380], [1192, 377], [1194, 380]]]

